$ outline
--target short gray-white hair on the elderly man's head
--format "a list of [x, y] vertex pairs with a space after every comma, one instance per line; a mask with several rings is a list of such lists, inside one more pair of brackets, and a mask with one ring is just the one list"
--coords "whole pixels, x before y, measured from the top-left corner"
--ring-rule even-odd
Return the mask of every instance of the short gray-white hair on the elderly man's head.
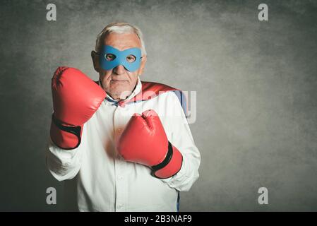
[[109, 23], [106, 26], [106, 28], [104, 28], [102, 32], [100, 32], [99, 35], [97, 35], [96, 47], [95, 47], [96, 52], [99, 53], [101, 51], [102, 45], [104, 44], [104, 38], [106, 38], [107, 35], [109, 35], [111, 32], [115, 32], [119, 34], [135, 33], [136, 35], [138, 35], [138, 38], [141, 42], [141, 55], [142, 56], [146, 55], [143, 34], [140, 28], [126, 22]]

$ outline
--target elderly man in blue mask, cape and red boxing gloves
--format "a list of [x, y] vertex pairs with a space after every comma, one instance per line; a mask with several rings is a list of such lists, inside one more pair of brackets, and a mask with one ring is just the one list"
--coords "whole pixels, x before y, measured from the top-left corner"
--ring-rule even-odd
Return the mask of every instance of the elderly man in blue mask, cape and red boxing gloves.
[[68, 67], [52, 78], [49, 172], [75, 182], [80, 211], [178, 211], [201, 162], [181, 91], [140, 81], [146, 52], [136, 26], [107, 25], [95, 50], [99, 81]]

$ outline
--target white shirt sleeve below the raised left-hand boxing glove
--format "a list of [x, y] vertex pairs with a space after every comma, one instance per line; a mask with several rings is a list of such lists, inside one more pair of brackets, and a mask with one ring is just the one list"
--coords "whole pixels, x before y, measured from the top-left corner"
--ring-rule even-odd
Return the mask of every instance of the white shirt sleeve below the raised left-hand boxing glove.
[[65, 150], [55, 145], [49, 136], [46, 151], [46, 165], [49, 172], [58, 181], [73, 179], [80, 169], [81, 156], [85, 150], [85, 126], [83, 126], [82, 140], [78, 148]]

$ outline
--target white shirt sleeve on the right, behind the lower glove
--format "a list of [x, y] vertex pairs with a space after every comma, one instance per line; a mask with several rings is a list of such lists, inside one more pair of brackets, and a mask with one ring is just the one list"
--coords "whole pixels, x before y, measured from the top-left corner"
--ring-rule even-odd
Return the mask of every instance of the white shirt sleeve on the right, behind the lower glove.
[[177, 174], [162, 179], [162, 181], [178, 191], [189, 191], [199, 177], [198, 168], [201, 164], [201, 154], [193, 141], [181, 103], [174, 92], [169, 92], [167, 95], [166, 119], [169, 142], [181, 152], [183, 162]]

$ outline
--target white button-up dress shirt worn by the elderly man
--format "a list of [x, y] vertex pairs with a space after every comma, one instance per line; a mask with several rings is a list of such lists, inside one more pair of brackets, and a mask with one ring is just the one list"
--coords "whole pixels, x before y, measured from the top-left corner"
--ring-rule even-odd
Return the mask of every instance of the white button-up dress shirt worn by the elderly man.
[[[141, 89], [138, 79], [128, 99]], [[168, 179], [152, 177], [149, 167], [126, 162], [116, 152], [116, 138], [133, 113], [147, 109], [157, 112], [169, 142], [183, 155], [181, 169]], [[108, 96], [83, 125], [78, 148], [58, 148], [50, 138], [47, 148], [49, 172], [59, 181], [72, 179], [76, 184], [80, 211], [177, 211], [179, 191], [189, 191], [196, 182], [200, 163], [181, 104], [171, 91], [124, 107]]]

